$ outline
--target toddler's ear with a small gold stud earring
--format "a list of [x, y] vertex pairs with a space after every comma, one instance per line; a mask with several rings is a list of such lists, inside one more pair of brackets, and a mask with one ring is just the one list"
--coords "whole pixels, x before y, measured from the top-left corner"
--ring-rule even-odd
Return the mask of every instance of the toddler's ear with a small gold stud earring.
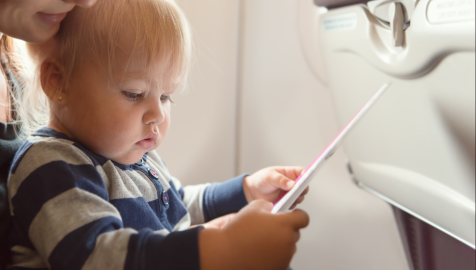
[[66, 91], [64, 67], [56, 59], [46, 59], [41, 64], [41, 88], [46, 96], [55, 104], [64, 104]]

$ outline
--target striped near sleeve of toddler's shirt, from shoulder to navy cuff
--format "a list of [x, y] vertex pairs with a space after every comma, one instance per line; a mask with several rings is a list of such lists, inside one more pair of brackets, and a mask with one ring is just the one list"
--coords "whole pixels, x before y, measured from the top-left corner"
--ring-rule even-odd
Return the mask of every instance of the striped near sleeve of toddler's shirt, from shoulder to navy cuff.
[[22, 148], [8, 183], [14, 269], [200, 268], [201, 227], [170, 234], [124, 228], [98, 164], [72, 142]]

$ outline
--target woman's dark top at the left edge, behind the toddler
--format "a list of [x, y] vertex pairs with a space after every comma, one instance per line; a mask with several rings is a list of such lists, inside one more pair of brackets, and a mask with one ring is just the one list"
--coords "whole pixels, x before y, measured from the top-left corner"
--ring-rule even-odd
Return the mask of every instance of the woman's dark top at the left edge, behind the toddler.
[[18, 127], [18, 122], [0, 122], [0, 269], [3, 269], [7, 260], [6, 232], [10, 225], [6, 180], [13, 156], [22, 145], [22, 140], [15, 133]]

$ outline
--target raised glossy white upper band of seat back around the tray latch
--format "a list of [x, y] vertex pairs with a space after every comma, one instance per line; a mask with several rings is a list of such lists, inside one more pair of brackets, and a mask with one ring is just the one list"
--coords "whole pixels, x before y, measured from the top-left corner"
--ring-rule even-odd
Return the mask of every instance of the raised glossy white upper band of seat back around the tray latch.
[[[365, 5], [333, 9], [321, 16], [320, 23], [334, 16], [355, 13], [358, 26], [350, 31], [324, 31], [318, 36], [327, 52], [352, 52], [364, 57], [371, 65], [397, 78], [411, 79], [431, 71], [445, 56], [474, 51], [475, 22], [430, 24], [426, 19], [428, 0], [421, 0], [411, 18], [411, 27], [405, 31], [404, 46], [392, 46], [390, 27], [377, 20]], [[345, 33], [343, 31], [346, 31]], [[323, 35], [325, 34], [325, 36]], [[323, 45], [324, 46], [324, 45]]]

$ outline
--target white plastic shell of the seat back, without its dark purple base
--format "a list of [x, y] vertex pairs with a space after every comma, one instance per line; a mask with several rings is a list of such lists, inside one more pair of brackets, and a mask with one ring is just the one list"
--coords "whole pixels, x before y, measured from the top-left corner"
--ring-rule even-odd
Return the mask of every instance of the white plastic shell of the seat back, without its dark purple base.
[[[341, 126], [393, 81], [344, 145], [357, 180], [474, 246], [475, 21], [432, 24], [429, 3], [399, 48], [365, 5], [330, 10], [320, 48]], [[325, 31], [343, 14], [356, 14], [354, 29]]]

